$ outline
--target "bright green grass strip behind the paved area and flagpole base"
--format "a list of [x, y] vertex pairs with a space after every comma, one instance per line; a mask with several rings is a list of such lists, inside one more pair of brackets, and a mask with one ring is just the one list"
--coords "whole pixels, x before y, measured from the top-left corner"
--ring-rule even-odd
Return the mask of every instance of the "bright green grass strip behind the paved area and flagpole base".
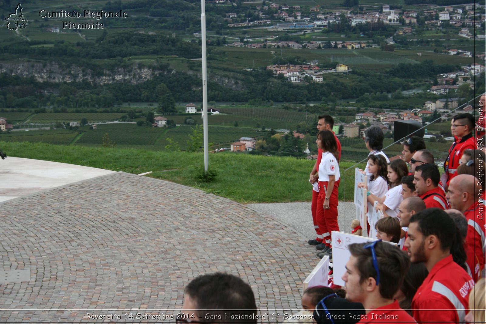
[[[0, 147], [8, 156], [13, 157], [71, 163], [133, 174], [153, 171], [150, 177], [191, 186], [242, 203], [310, 201], [312, 198], [308, 177], [314, 162], [305, 159], [233, 152], [210, 154], [210, 167], [219, 170], [218, 177], [210, 183], [198, 183], [194, 178], [194, 167], [202, 168], [203, 153], [56, 146], [27, 142], [0, 142]], [[347, 201], [353, 200], [354, 167], [344, 172], [353, 164], [340, 163], [341, 201], [343, 198]]]

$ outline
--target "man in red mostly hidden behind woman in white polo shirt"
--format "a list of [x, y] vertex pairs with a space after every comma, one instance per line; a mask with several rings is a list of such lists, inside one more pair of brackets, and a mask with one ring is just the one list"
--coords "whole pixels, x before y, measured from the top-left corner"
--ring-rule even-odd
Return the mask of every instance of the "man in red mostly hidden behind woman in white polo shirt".
[[[330, 116], [330, 115], [321, 115], [318, 117], [319, 120], [317, 121], [317, 130], [318, 131], [321, 131], [321, 130], [330, 130], [332, 131], [332, 128], [334, 127], [334, 119]], [[334, 132], [332, 132], [334, 134]], [[336, 137], [336, 135], [334, 135], [335, 139], [336, 139], [336, 143], [337, 143], [337, 150], [339, 152], [339, 159], [341, 159], [341, 143], [339, 142], [338, 138]], [[309, 181], [311, 181], [312, 184], [314, 184], [317, 179], [319, 178], [318, 175], [317, 175], [317, 170], [319, 168], [319, 164], [321, 163], [321, 159], [322, 159], [322, 150], [320, 148], [318, 148], [317, 150], [317, 160], [314, 164], [314, 167], [312, 168], [312, 171], [311, 171], [311, 174], [309, 175]], [[339, 182], [340, 181], [336, 181], [336, 183], [334, 185], [337, 185], [339, 186]], [[317, 196], [319, 195], [319, 193], [317, 191], [315, 191], [314, 189], [312, 189], [312, 203], [311, 203], [311, 212], [312, 212], [312, 221], [314, 222], [314, 229], [315, 229], [315, 232], [317, 234], [317, 237], [316, 239], [312, 239], [312, 240], [309, 240], [307, 243], [309, 243], [310, 245], [317, 245], [319, 248], [317, 248], [318, 250], [322, 250], [324, 248], [324, 244], [322, 244], [322, 240], [324, 239], [325, 236], [328, 236], [329, 234], [328, 233], [321, 233], [321, 231], [319, 230], [319, 226], [317, 226], [317, 220], [316, 220], [316, 216], [317, 216], [317, 208], [322, 208], [322, 206], [317, 206]], [[326, 235], [324, 235], [326, 234]], [[321, 244], [321, 245], [319, 245]]]

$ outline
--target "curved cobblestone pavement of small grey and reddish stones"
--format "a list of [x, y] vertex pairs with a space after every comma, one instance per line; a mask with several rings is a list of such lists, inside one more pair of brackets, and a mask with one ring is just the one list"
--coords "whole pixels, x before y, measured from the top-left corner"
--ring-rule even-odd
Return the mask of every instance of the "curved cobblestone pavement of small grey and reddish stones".
[[0, 270], [30, 273], [0, 277], [0, 322], [174, 322], [184, 286], [216, 271], [251, 285], [263, 322], [275, 309], [282, 322], [318, 261], [272, 217], [122, 172], [5, 201], [0, 219]]

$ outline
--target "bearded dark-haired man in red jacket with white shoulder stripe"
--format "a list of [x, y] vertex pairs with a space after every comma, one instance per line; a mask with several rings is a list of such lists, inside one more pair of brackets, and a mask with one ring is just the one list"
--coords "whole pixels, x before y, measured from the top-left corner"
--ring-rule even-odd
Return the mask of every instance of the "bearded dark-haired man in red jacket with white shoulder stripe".
[[[412, 263], [424, 262], [429, 275], [412, 301], [417, 323], [464, 322], [474, 280], [452, 259], [451, 247], [462, 240], [451, 217], [438, 208], [410, 219], [405, 246]], [[464, 253], [464, 251], [463, 251]]]

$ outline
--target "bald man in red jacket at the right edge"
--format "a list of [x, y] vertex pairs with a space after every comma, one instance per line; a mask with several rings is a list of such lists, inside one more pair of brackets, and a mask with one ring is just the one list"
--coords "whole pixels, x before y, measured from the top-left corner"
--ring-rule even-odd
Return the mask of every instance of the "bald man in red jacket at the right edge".
[[[458, 175], [451, 179], [447, 200], [452, 209], [461, 211], [468, 221], [468, 234], [466, 235], [467, 263], [472, 278], [477, 282], [485, 269], [486, 248], [486, 222], [485, 206], [476, 199], [479, 188], [478, 180], [471, 175]], [[476, 192], [476, 193], [475, 193]]]

